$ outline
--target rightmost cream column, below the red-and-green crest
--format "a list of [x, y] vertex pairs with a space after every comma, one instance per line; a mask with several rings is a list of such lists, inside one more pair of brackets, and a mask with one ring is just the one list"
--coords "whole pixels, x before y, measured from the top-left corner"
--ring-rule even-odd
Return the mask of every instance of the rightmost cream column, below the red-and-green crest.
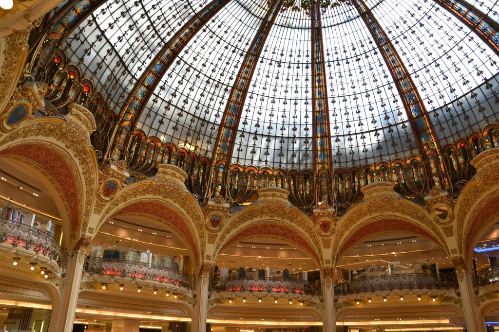
[[462, 258], [455, 258], [453, 259], [453, 262], [458, 276], [466, 328], [468, 332], [486, 331], [484, 318], [481, 317], [478, 305], [475, 302], [472, 272], [466, 269], [466, 265]]

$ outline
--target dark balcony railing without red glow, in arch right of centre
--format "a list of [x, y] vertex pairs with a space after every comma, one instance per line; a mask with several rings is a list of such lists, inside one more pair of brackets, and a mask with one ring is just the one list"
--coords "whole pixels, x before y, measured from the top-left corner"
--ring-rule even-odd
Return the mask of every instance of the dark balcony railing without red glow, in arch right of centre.
[[449, 290], [457, 287], [458, 280], [455, 273], [411, 273], [347, 280], [336, 284], [334, 292], [335, 294], [359, 294], [413, 289]]

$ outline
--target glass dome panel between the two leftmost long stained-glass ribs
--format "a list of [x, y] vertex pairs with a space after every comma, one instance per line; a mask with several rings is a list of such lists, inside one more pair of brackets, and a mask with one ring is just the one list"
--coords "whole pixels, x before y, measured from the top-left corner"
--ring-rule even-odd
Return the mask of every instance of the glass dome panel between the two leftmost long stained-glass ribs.
[[206, 22], [161, 79], [137, 126], [211, 157], [232, 86], [267, 10], [260, 1], [231, 1]]

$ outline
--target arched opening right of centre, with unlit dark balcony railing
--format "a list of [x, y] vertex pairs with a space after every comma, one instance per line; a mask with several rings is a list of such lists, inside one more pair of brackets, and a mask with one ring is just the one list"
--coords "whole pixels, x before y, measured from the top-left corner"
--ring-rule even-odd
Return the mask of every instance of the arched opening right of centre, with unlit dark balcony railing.
[[417, 228], [408, 232], [381, 225], [384, 232], [377, 231], [377, 222], [360, 227], [343, 242], [336, 257], [337, 324], [410, 329], [421, 327], [424, 320], [445, 329], [464, 323], [462, 310], [448, 304], [450, 298], [460, 299], [446, 250]]

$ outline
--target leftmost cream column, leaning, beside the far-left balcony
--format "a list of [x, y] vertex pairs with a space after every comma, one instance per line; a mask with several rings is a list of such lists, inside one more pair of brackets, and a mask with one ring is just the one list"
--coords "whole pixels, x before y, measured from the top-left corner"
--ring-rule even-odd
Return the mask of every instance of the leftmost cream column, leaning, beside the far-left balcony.
[[[66, 279], [58, 301], [54, 301], [48, 331], [72, 331], [85, 254], [90, 238], [82, 237], [69, 254]], [[137, 330], [138, 331], [138, 330]]]

